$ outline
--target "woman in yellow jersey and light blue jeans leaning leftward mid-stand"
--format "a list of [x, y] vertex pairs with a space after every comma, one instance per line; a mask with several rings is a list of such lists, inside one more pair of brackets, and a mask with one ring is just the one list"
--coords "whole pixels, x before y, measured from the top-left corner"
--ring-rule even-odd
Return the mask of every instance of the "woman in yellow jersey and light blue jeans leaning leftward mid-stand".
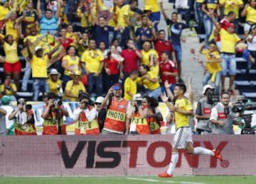
[[146, 64], [139, 66], [139, 73], [141, 74], [142, 84], [147, 88], [147, 95], [158, 99], [161, 93], [159, 77], [154, 76]]

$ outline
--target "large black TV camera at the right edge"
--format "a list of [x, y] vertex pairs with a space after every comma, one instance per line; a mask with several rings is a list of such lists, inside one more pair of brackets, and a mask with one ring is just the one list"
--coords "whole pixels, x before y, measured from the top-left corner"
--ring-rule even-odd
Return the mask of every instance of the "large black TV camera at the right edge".
[[240, 117], [244, 121], [241, 134], [255, 134], [255, 129], [251, 126], [252, 113], [245, 113], [245, 110], [256, 110], [256, 103], [250, 102], [247, 98], [242, 98], [232, 104], [232, 112], [236, 113], [236, 117]]

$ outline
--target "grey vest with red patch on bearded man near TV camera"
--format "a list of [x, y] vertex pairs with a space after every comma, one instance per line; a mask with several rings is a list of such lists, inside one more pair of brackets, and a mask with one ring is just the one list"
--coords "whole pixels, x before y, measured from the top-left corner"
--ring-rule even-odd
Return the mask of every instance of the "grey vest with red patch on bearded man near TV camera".
[[217, 105], [215, 105], [215, 108], [217, 109], [217, 112], [218, 112], [218, 120], [224, 121], [225, 125], [223, 127], [220, 125], [212, 125], [212, 133], [213, 134], [234, 134], [231, 107], [228, 107], [229, 115], [225, 115], [225, 110], [221, 105], [221, 103], [218, 103]]

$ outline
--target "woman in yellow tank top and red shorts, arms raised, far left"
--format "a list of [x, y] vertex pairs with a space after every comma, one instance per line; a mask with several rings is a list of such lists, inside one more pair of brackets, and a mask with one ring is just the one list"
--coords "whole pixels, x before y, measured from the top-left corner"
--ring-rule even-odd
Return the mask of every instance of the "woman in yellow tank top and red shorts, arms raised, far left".
[[[18, 31], [18, 30], [16, 30]], [[14, 83], [19, 88], [19, 79], [21, 74], [21, 62], [18, 58], [18, 40], [19, 36], [14, 40], [13, 35], [6, 35], [3, 39], [0, 37], [0, 42], [4, 45], [4, 74], [13, 75]]]

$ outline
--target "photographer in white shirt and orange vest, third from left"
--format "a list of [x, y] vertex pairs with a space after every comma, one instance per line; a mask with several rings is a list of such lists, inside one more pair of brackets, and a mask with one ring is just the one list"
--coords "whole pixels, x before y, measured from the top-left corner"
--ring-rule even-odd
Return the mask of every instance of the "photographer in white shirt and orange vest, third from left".
[[96, 121], [96, 109], [90, 103], [87, 93], [80, 93], [79, 107], [75, 109], [73, 120], [76, 120], [75, 135], [100, 134], [100, 128]]

